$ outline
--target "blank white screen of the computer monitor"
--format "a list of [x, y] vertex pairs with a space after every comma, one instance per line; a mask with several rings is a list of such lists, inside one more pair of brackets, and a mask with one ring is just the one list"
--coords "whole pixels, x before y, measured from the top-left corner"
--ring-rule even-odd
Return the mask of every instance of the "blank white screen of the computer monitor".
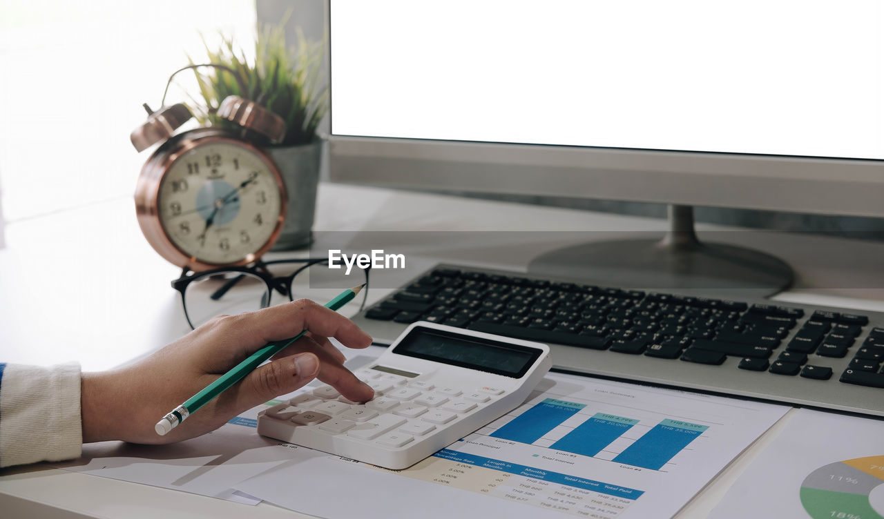
[[884, 159], [882, 5], [332, 0], [331, 131]]

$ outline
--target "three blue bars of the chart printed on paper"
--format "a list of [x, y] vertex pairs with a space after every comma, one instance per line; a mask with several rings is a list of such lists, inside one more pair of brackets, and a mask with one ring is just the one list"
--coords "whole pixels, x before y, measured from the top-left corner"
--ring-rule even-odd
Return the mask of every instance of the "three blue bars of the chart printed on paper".
[[[589, 413], [584, 410], [585, 408], [586, 404], [583, 403], [546, 398], [489, 436], [533, 444], [544, 438], [547, 433], [552, 433], [546, 441], [560, 438], [553, 441], [549, 448], [644, 469], [660, 470], [709, 428], [708, 425], [697, 425], [671, 418], [660, 419], [660, 417], [653, 417], [652, 423], [658, 420], [659, 422], [651, 426], [645, 417], [645, 425], [638, 428], [639, 431], [644, 431], [644, 434], [639, 432], [624, 436], [634, 431], [633, 427], [642, 420], [604, 412], [597, 412], [576, 426], [563, 425], [568, 418], [575, 417], [581, 410], [583, 413], [580, 417], [587, 416]], [[571, 423], [576, 421], [572, 420]], [[560, 430], [553, 433], [553, 430], [560, 426], [562, 426]], [[627, 442], [631, 443], [623, 448], [623, 444]], [[603, 450], [607, 453], [599, 456]], [[611, 459], [610, 456], [613, 454], [614, 457]]]

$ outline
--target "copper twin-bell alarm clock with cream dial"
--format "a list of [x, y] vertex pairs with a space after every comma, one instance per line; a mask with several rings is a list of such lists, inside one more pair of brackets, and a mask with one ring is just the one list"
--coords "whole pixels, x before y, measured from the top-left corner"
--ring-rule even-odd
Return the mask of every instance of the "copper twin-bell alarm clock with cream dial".
[[[285, 133], [281, 117], [238, 96], [227, 97], [217, 115], [271, 141]], [[135, 187], [141, 232], [179, 267], [246, 265], [267, 252], [282, 229], [285, 184], [271, 158], [236, 132], [210, 127], [174, 134], [190, 117], [186, 106], [175, 104], [150, 113], [132, 132], [139, 152], [162, 142]]]

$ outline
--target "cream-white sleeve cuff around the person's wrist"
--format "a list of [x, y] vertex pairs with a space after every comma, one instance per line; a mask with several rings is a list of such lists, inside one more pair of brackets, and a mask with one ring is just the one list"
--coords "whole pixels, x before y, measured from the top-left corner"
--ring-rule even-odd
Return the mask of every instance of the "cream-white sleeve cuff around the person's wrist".
[[0, 364], [0, 467], [80, 456], [80, 365]]

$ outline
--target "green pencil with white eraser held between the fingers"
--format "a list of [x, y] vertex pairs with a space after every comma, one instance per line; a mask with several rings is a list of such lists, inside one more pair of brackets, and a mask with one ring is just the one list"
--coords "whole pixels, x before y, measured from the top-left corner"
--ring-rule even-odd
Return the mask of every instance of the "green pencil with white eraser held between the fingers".
[[[331, 301], [326, 303], [325, 307], [331, 308], [331, 310], [338, 310], [341, 306], [346, 305], [351, 299], [356, 297], [356, 294], [358, 294], [364, 286], [365, 285], [362, 284], [358, 287], [344, 290], [338, 295], [338, 297], [335, 297], [334, 299], [331, 299]], [[210, 402], [210, 400], [215, 398], [217, 395], [221, 395], [221, 393], [224, 392], [227, 387], [231, 387], [233, 384], [236, 384], [237, 382], [242, 380], [243, 377], [252, 372], [252, 370], [258, 367], [258, 365], [261, 365], [263, 361], [272, 357], [279, 350], [286, 348], [286, 346], [288, 346], [292, 342], [297, 341], [301, 338], [301, 335], [304, 335], [306, 333], [307, 330], [304, 330], [300, 334], [295, 335], [290, 339], [269, 342], [261, 350], [255, 351], [255, 353], [250, 355], [246, 360], [240, 362], [239, 365], [236, 365], [236, 367], [232, 368], [232, 370], [230, 370], [229, 372], [221, 375], [221, 377], [212, 382], [210, 385], [204, 387], [202, 391], [200, 391], [196, 395], [191, 396], [187, 400], [187, 402], [182, 403], [165, 417], [163, 417], [162, 420], [156, 422], [156, 426], [154, 427], [156, 433], [160, 436], [164, 436], [166, 433], [169, 433], [181, 422], [187, 420], [187, 417], [189, 417], [191, 413], [200, 409], [203, 405], [205, 405], [207, 402]]]

